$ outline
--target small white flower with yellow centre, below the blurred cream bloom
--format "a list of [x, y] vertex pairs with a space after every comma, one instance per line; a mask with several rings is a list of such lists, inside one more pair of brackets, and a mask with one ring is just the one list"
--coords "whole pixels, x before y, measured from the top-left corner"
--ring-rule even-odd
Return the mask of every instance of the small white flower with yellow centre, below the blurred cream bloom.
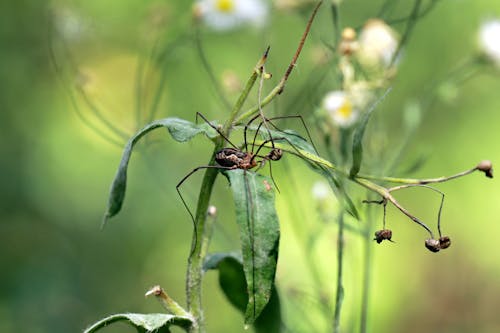
[[325, 109], [333, 122], [342, 128], [348, 128], [358, 119], [358, 110], [344, 91], [331, 91], [323, 98]]

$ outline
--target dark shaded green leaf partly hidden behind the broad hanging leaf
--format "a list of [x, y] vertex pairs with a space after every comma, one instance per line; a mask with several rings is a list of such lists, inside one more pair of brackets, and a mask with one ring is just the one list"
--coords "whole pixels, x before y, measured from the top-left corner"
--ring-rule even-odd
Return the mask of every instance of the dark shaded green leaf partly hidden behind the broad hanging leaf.
[[[245, 314], [248, 304], [247, 283], [243, 261], [237, 253], [214, 253], [209, 255], [203, 270], [217, 269], [219, 285], [229, 302]], [[279, 332], [281, 329], [280, 299], [276, 288], [272, 288], [271, 298], [254, 322], [256, 333]]]

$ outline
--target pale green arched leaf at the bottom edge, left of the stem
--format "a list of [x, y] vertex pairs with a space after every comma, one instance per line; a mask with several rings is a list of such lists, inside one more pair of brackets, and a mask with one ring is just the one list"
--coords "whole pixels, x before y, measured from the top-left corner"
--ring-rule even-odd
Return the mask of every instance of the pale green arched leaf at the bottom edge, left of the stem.
[[185, 330], [188, 330], [193, 323], [189, 317], [174, 316], [171, 314], [119, 313], [99, 320], [98, 322], [87, 328], [84, 331], [84, 333], [97, 332], [103, 327], [106, 327], [112, 323], [120, 321], [130, 324], [131, 326], [135, 327], [139, 332], [159, 332], [159, 333], [170, 332], [169, 327], [172, 325], [180, 326]]

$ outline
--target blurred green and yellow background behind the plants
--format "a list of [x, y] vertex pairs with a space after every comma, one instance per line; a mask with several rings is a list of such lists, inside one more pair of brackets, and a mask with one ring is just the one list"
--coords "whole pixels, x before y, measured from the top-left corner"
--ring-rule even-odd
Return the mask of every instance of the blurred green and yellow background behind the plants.
[[[406, 13], [411, 5], [401, 5], [398, 11]], [[210, 143], [199, 137], [181, 145], [163, 131], [153, 134], [141, 152], [133, 155], [123, 211], [100, 231], [121, 148], [85, 125], [76, 110], [84, 115], [92, 111], [81, 98], [72, 104], [68, 91], [85, 89], [89, 100], [130, 135], [147, 120], [154, 91], [165, 73], [155, 117], [194, 120], [199, 111], [210, 119], [224, 119], [227, 110], [215, 95], [193, 43], [183, 37], [192, 33], [191, 6], [181, 0], [0, 4], [1, 332], [77, 332], [111, 313], [161, 312], [154, 300], [143, 296], [155, 284], [184, 304], [191, 225], [175, 185], [209, 160]], [[342, 23], [360, 26], [376, 15], [379, 6], [377, 1], [345, 1]], [[267, 69], [277, 80], [296, 48], [307, 13], [273, 12], [270, 24], [261, 31], [217, 34], [202, 30], [202, 43], [216, 77], [231, 70], [245, 80], [269, 44]], [[276, 110], [311, 93], [304, 91], [304, 82], [314, 74], [318, 49], [324, 50], [322, 42], [332, 41], [329, 15], [324, 6]], [[477, 53], [477, 29], [484, 19], [495, 16], [500, 17], [498, 1], [443, 0], [419, 21], [393, 91], [377, 111], [376, 121], [388, 126], [386, 149], [401, 139], [403, 105], [423, 93], [436, 77]], [[137, 68], [148, 59], [158, 36], [160, 48], [178, 42], [167, 50], [161, 64], [146, 62], [151, 65], [146, 71], [149, 76], [144, 80], [143, 100], [137, 103]], [[51, 47], [59, 73], [51, 62]], [[75, 64], [80, 77], [68, 80]], [[326, 89], [328, 85], [320, 88]], [[500, 160], [500, 70], [482, 71], [450, 89], [450, 98], [427, 111], [408, 147], [408, 159], [426, 157], [415, 176], [447, 175], [482, 159], [494, 165]], [[233, 101], [237, 94], [228, 96]], [[318, 101], [308, 101], [295, 113], [307, 118]], [[313, 290], [318, 286], [313, 285], [307, 261], [314, 263], [320, 287], [331, 296], [336, 227], [325, 226], [316, 255], [304, 256], [302, 238], [320, 223], [311, 198], [311, 186], [318, 178], [293, 157], [275, 169], [282, 222], [277, 281], [286, 303], [285, 323], [292, 323], [291, 331], [321, 331], [324, 320], [314, 312], [319, 301]], [[200, 175], [192, 177], [183, 187], [192, 207], [200, 180]], [[439, 188], [447, 194], [443, 228], [453, 239], [448, 251], [426, 251], [422, 230], [391, 209], [388, 221], [397, 243], [370, 243], [369, 332], [500, 331], [496, 179], [473, 174]], [[228, 192], [224, 179], [219, 179], [213, 199], [220, 212], [212, 244], [216, 251], [238, 246]], [[433, 195], [415, 190], [401, 197], [417, 215], [434, 218], [438, 199]], [[375, 223], [380, 222], [377, 215]], [[362, 244], [359, 236], [348, 233], [344, 332], [357, 331], [359, 326]], [[204, 283], [209, 332], [243, 331], [241, 315], [218, 290], [216, 273], [208, 273]], [[133, 330], [119, 325], [104, 330], [124, 331]]]

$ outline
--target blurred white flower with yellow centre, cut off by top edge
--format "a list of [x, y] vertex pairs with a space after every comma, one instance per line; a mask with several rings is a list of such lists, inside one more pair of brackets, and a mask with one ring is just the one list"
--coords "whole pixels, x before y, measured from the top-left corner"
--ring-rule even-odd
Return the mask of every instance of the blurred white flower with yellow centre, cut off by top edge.
[[262, 0], [198, 0], [195, 13], [214, 30], [224, 31], [249, 24], [264, 25], [268, 7]]

